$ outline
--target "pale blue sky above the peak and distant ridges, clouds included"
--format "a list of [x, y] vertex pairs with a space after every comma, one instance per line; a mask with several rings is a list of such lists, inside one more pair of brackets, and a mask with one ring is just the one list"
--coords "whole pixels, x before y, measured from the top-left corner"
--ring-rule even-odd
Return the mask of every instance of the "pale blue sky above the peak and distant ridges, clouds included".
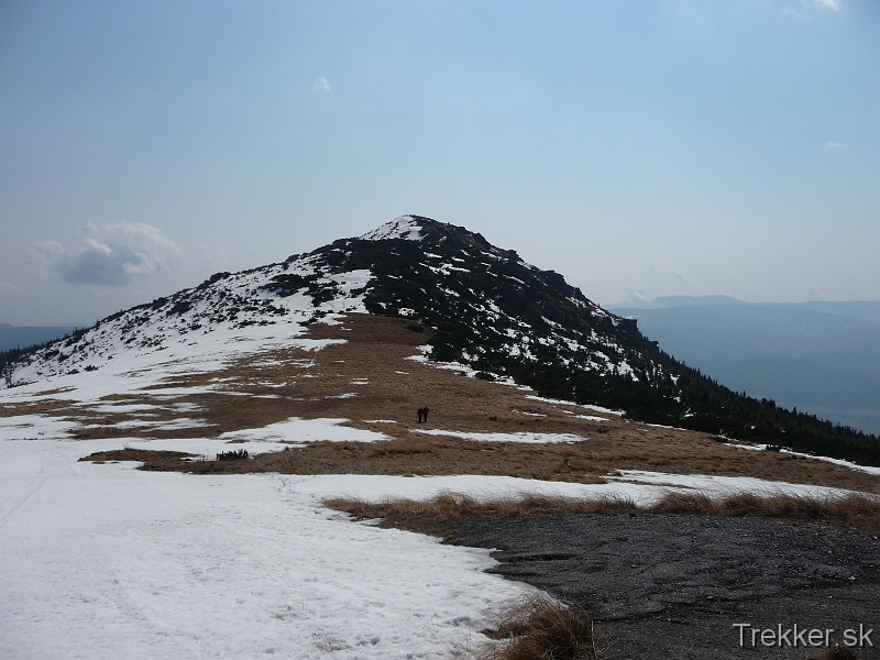
[[403, 213], [602, 304], [880, 300], [880, 6], [0, 6], [0, 322]]

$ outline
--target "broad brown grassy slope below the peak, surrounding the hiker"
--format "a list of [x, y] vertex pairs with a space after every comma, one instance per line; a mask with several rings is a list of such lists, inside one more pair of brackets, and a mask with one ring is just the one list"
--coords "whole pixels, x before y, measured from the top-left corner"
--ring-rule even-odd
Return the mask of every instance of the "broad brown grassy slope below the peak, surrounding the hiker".
[[[221, 432], [301, 417], [351, 419], [349, 426], [381, 431], [387, 443], [316, 442], [287, 455], [261, 457], [246, 464], [227, 465], [226, 472], [288, 472], [297, 474], [503, 474], [525, 479], [594, 483], [615, 470], [648, 470], [676, 474], [754, 476], [769, 481], [815, 484], [880, 494], [880, 479], [828, 462], [789, 453], [746, 451], [716, 442], [705, 433], [646, 427], [613, 416], [597, 415], [576, 405], [527, 398], [528, 392], [466, 378], [453, 371], [414, 362], [427, 333], [406, 329], [402, 319], [350, 315], [338, 326], [315, 323], [311, 339], [344, 339], [345, 343], [309, 352], [300, 349], [250, 355], [222, 371], [176, 375], [173, 383], [198, 387], [176, 395], [174, 403], [198, 411], [183, 416], [204, 419], [199, 427], [162, 429], [180, 414], [161, 393], [106, 397], [99, 404], [150, 404], [144, 419], [156, 426], [120, 422], [138, 413], [107, 413], [66, 402], [4, 406], [0, 416], [42, 411], [76, 418], [84, 428], [78, 438], [202, 438]], [[365, 384], [364, 384], [365, 383]], [[204, 387], [216, 388], [205, 392]], [[341, 395], [354, 394], [349, 398]], [[178, 395], [180, 393], [177, 393]], [[233, 396], [234, 394], [234, 396]], [[241, 394], [252, 396], [241, 396]], [[431, 408], [428, 424], [416, 424], [416, 409]], [[41, 409], [45, 406], [45, 409]], [[583, 419], [579, 415], [607, 418]], [[395, 424], [371, 424], [369, 420]], [[573, 444], [471, 442], [449, 436], [420, 436], [414, 430], [444, 429], [475, 432], [570, 433], [584, 440]], [[295, 438], [292, 438], [295, 440]], [[186, 464], [154, 469], [187, 470]], [[206, 471], [215, 468], [204, 468]], [[219, 469], [218, 469], [219, 470]]]

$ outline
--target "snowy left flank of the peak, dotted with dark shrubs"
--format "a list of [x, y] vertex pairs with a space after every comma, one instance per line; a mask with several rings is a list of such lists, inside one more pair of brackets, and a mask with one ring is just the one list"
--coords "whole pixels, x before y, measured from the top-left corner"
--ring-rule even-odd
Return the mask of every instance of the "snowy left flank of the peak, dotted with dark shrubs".
[[[242, 345], [271, 348], [302, 334], [319, 318], [366, 311], [363, 294], [370, 272], [329, 277], [320, 262], [319, 255], [309, 255], [243, 273], [218, 273], [195, 288], [112, 315], [29, 355], [8, 370], [0, 387], [120, 362], [143, 367], [234, 354]], [[284, 284], [277, 285], [278, 278]], [[302, 288], [284, 289], [294, 278]], [[282, 288], [273, 288], [277, 286]]]

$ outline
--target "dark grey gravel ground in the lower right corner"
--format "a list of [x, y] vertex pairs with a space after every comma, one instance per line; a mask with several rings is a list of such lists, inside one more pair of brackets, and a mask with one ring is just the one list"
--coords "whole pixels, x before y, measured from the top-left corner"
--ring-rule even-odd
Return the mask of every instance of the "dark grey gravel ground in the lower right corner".
[[[466, 522], [453, 542], [494, 548], [494, 572], [584, 606], [616, 658], [810, 658], [826, 629], [832, 645], [862, 634], [859, 656], [880, 658], [876, 537], [778, 519], [619, 515]], [[795, 625], [821, 628], [820, 648]], [[752, 646], [754, 628], [772, 629], [763, 640], [773, 646], [760, 631]]]

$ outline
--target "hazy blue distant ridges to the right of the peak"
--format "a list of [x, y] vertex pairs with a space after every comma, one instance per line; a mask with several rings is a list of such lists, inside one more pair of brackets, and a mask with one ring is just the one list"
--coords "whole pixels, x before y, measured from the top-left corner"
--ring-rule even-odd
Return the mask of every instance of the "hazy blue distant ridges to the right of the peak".
[[880, 302], [676, 296], [612, 309], [728, 387], [880, 432]]

